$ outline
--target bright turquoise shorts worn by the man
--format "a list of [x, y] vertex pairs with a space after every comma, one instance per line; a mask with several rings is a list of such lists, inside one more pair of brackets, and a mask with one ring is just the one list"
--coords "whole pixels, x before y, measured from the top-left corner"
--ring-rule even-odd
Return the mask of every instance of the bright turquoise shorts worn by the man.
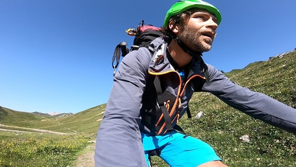
[[[160, 150], [160, 158], [169, 166], [199, 166], [209, 161], [221, 161], [209, 144], [183, 135], [180, 132], [167, 132], [165, 135], [149, 136], [142, 133], [147, 166], [149, 150]], [[153, 163], [153, 162], [152, 162]]]

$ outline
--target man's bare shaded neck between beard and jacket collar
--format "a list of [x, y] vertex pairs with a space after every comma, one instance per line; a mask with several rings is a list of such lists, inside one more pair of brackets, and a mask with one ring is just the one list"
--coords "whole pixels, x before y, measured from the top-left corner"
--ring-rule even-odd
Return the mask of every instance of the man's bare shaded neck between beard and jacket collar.
[[167, 46], [169, 54], [173, 58], [174, 61], [178, 64], [180, 68], [183, 68], [186, 66], [192, 59], [190, 55], [188, 55], [186, 52], [178, 46], [178, 43], [176, 43], [175, 40], [171, 40], [171, 43], [169, 43], [169, 46]]

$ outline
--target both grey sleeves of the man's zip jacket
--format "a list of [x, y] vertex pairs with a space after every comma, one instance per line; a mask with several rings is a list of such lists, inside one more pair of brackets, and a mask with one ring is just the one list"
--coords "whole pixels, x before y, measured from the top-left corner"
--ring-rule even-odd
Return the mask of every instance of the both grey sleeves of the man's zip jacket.
[[[147, 166], [139, 127], [149, 63], [151, 55], [146, 48], [130, 52], [120, 63], [97, 134], [94, 156], [97, 167]], [[202, 91], [211, 92], [251, 117], [296, 133], [294, 108], [262, 93], [242, 88], [213, 66], [207, 66], [211, 82], [204, 83]]]

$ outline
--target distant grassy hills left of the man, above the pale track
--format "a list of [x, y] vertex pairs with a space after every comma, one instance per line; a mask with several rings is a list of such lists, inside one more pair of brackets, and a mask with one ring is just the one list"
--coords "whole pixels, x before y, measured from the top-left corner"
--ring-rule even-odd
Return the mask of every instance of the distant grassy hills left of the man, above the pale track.
[[[50, 115], [41, 116], [40, 114], [19, 112], [9, 108], [0, 107], [0, 116], [3, 116], [3, 118], [0, 119], [0, 124], [25, 128], [39, 128], [73, 134], [82, 133], [89, 137], [95, 137], [98, 126], [103, 118], [105, 106], [106, 104], [103, 104], [61, 118]], [[14, 128], [14, 130], [17, 130], [17, 128]]]

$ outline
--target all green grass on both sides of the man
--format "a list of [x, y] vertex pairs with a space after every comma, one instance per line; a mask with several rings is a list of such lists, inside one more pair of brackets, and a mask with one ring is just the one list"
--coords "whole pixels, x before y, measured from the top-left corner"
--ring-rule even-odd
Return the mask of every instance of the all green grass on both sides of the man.
[[[224, 74], [241, 86], [296, 108], [295, 51]], [[0, 124], [74, 134], [0, 131], [0, 166], [74, 166], [77, 155], [87, 146], [86, 141], [95, 139], [105, 106], [64, 118], [0, 107]], [[295, 135], [253, 119], [205, 92], [193, 94], [189, 106], [193, 118], [187, 119], [185, 115], [180, 126], [188, 135], [213, 146], [228, 166], [296, 166]], [[195, 119], [200, 111], [204, 115]], [[242, 141], [243, 135], [249, 135], [250, 141]], [[158, 157], [152, 157], [152, 161], [154, 166], [167, 166]]]

